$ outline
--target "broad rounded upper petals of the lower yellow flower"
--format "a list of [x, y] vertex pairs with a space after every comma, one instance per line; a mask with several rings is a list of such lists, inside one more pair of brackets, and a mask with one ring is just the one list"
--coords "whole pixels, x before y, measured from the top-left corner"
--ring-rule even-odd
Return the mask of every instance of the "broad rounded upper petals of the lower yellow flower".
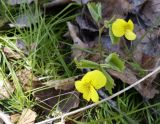
[[99, 70], [88, 72], [82, 81], [89, 82], [95, 89], [100, 89], [106, 84], [106, 76]]

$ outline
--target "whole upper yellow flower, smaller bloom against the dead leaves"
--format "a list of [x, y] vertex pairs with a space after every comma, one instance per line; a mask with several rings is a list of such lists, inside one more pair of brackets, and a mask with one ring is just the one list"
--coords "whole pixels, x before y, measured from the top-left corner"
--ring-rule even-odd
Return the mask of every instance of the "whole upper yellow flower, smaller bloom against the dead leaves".
[[128, 40], [135, 40], [136, 34], [133, 32], [134, 24], [132, 20], [126, 22], [124, 19], [117, 19], [112, 24], [112, 32], [116, 37], [122, 37], [123, 35]]

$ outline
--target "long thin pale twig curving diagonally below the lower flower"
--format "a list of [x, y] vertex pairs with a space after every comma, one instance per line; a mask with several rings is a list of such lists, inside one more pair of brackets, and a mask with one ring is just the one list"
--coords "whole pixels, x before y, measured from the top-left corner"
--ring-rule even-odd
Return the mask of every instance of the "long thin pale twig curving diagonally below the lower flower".
[[153, 72], [151, 72], [151, 73], [149, 73], [148, 75], [146, 75], [145, 77], [143, 77], [142, 79], [140, 79], [140, 80], [136, 81], [135, 83], [133, 83], [132, 85], [126, 87], [125, 89], [123, 89], [123, 90], [121, 90], [121, 91], [119, 91], [119, 92], [117, 92], [117, 93], [115, 93], [115, 94], [113, 94], [112, 96], [109, 96], [109, 97], [107, 97], [107, 98], [99, 101], [98, 103], [93, 103], [93, 104], [88, 105], [88, 106], [86, 106], [86, 107], [83, 107], [83, 108], [80, 108], [80, 109], [77, 109], [77, 110], [74, 110], [74, 111], [65, 113], [65, 114], [63, 114], [62, 116], [57, 116], [57, 117], [55, 117], [55, 118], [47, 119], [47, 120], [44, 120], [44, 121], [42, 121], [42, 122], [38, 122], [38, 123], [36, 123], [36, 124], [45, 124], [45, 123], [47, 123], [47, 122], [53, 122], [53, 121], [58, 120], [58, 119], [64, 119], [64, 118], [67, 117], [67, 116], [76, 114], [76, 113], [78, 113], [78, 112], [81, 112], [81, 111], [87, 110], [87, 109], [89, 109], [89, 108], [92, 108], [92, 107], [94, 107], [94, 106], [96, 106], [96, 105], [98, 105], [98, 104], [104, 103], [104, 102], [106, 102], [106, 101], [108, 101], [108, 100], [111, 100], [112, 98], [114, 98], [114, 97], [116, 97], [116, 96], [118, 96], [118, 95], [126, 92], [127, 90], [135, 87], [136, 85], [140, 84], [141, 82], [143, 82], [144, 80], [146, 80], [146, 79], [149, 78], [150, 76], [154, 75], [155, 73], [158, 73], [159, 71], [160, 71], [160, 66], [157, 67]]

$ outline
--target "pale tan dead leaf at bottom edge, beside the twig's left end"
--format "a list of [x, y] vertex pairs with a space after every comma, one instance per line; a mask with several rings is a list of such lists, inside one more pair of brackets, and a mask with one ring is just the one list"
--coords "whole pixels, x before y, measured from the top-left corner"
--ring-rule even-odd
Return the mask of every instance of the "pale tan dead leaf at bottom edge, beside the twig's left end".
[[24, 109], [17, 124], [34, 124], [37, 114], [31, 109]]

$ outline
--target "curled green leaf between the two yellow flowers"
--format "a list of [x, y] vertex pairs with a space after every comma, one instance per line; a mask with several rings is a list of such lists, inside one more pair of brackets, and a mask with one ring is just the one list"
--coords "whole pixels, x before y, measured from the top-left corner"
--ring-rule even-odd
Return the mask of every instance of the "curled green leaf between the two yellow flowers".
[[109, 68], [123, 72], [125, 69], [124, 61], [122, 61], [116, 53], [111, 53], [106, 59]]

